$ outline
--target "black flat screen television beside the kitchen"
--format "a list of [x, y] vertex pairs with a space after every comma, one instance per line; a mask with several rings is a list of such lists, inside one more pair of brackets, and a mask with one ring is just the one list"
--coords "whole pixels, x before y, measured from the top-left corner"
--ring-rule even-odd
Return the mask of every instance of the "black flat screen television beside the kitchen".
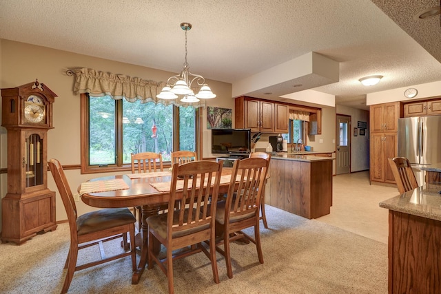
[[250, 129], [212, 129], [212, 154], [249, 154]]

